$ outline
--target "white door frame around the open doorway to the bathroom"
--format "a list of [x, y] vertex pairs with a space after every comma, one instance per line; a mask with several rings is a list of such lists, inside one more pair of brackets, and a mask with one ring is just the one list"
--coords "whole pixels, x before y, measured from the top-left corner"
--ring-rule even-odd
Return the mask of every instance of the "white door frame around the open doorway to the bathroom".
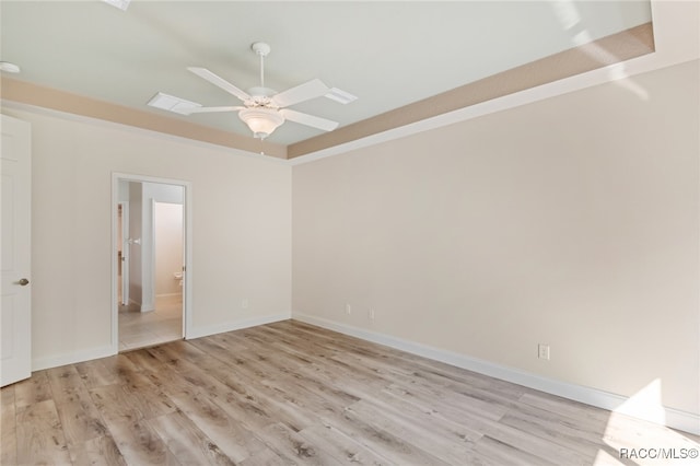
[[117, 206], [119, 203], [119, 182], [160, 183], [180, 186], [183, 201], [183, 338], [191, 335], [191, 283], [192, 283], [192, 185], [191, 182], [161, 178], [131, 173], [112, 173], [112, 350], [119, 352], [119, 306], [118, 306], [118, 264], [117, 264]]

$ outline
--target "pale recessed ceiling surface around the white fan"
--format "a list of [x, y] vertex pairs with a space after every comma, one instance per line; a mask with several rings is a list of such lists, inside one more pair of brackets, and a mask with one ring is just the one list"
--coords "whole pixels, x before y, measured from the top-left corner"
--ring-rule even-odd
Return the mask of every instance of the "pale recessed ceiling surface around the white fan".
[[[164, 92], [203, 105], [235, 97], [186, 70], [258, 84], [253, 42], [270, 44], [266, 85], [314, 78], [358, 101], [294, 109], [349, 125], [652, 20], [650, 1], [101, 1], [0, 3], [0, 60], [16, 79], [249, 136], [235, 114], [148, 107]], [[290, 144], [320, 131], [285, 123]]]

